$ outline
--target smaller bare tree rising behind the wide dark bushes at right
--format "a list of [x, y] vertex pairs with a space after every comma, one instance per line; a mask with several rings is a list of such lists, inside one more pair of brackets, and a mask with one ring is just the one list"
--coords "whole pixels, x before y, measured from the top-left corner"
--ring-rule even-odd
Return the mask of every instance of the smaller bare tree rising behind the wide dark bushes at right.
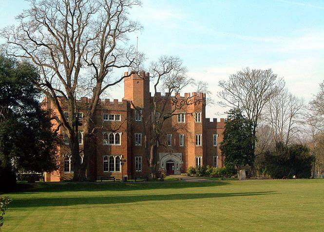
[[270, 126], [275, 143], [288, 145], [301, 132], [303, 109], [304, 99], [293, 96], [287, 89], [267, 102], [263, 118]]

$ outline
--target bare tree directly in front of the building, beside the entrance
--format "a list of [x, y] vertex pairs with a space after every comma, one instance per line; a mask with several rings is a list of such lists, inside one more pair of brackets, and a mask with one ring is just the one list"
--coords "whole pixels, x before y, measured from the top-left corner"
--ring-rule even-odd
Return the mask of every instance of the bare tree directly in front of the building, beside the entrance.
[[[192, 78], [188, 77], [187, 68], [182, 65], [182, 61], [178, 57], [161, 56], [157, 62], [151, 63], [150, 73], [150, 79], [153, 82], [153, 96], [150, 101], [151, 114], [148, 114], [148, 117], [142, 115], [142, 118], [145, 119], [142, 120], [142, 126], [145, 134], [145, 147], [147, 148], [151, 178], [155, 178], [158, 148], [167, 147], [163, 142], [166, 134], [165, 123], [171, 120], [172, 116], [193, 114], [194, 112], [185, 111], [184, 109], [198, 102], [206, 104], [202, 98], [198, 97], [203, 92], [208, 92], [208, 90], [206, 83], [202, 81], [196, 83]], [[180, 92], [189, 86], [195, 86], [196, 93], [191, 96], [180, 97]], [[165, 96], [161, 96], [160, 91], [167, 92]], [[137, 112], [142, 112], [140, 107], [135, 105], [133, 107]], [[178, 129], [172, 128], [171, 130], [177, 131]]]

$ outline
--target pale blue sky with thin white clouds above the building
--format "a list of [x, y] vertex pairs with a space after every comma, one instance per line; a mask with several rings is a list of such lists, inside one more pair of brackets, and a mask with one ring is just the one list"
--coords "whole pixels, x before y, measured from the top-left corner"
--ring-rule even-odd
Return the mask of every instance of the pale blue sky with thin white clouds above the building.
[[[15, 24], [27, 7], [0, 0], [0, 28]], [[179, 56], [192, 78], [208, 83], [215, 102], [218, 82], [244, 67], [272, 68], [305, 102], [324, 80], [324, 0], [142, 0], [131, 17], [143, 30], [130, 43], [138, 36], [147, 65], [161, 55]], [[122, 99], [123, 84], [110, 95]], [[206, 114], [224, 111], [215, 104]]]

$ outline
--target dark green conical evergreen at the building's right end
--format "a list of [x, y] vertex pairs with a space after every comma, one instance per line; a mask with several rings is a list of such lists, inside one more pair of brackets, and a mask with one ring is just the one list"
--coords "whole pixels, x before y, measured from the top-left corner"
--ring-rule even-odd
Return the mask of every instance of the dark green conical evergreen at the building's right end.
[[224, 138], [220, 144], [225, 156], [224, 164], [235, 167], [237, 174], [241, 166], [254, 163], [253, 122], [244, 117], [240, 109], [231, 109], [226, 120]]

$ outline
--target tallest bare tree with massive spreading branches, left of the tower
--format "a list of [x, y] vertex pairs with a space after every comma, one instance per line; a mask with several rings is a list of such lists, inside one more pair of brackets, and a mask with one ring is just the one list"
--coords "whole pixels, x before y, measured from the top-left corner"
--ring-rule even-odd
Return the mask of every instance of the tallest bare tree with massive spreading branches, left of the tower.
[[[57, 123], [66, 130], [74, 163], [74, 180], [84, 180], [89, 162], [86, 149], [94, 134], [92, 116], [102, 94], [124, 77], [112, 78], [114, 68], [133, 63], [128, 34], [140, 26], [128, 18], [139, 0], [30, 0], [30, 9], [17, 17], [19, 26], [1, 30], [8, 55], [27, 59], [39, 68], [35, 83], [57, 109]], [[108, 78], [108, 79], [107, 79]], [[79, 91], [82, 90], [82, 91]], [[89, 96], [83, 105], [77, 98]], [[65, 118], [63, 107], [68, 108]], [[82, 108], [84, 158], [78, 145], [78, 112]]]

